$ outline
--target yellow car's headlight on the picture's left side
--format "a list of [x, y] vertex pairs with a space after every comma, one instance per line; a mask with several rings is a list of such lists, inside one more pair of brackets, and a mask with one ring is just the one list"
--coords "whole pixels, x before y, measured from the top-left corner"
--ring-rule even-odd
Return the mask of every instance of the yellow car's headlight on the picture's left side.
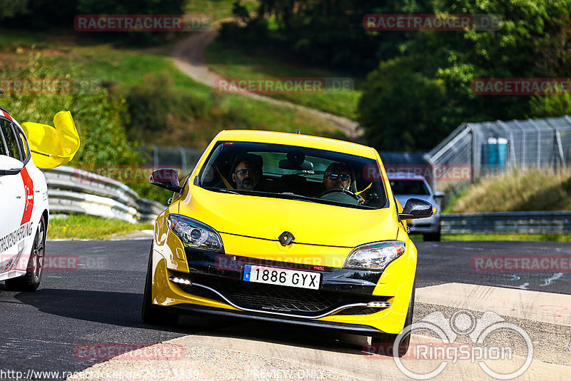
[[218, 232], [200, 221], [185, 215], [169, 214], [168, 227], [189, 248], [224, 252]]

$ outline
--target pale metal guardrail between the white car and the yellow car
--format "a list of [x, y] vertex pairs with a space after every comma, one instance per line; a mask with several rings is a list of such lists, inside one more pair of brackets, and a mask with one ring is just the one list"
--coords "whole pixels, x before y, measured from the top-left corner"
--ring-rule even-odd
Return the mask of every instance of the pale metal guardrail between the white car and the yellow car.
[[125, 184], [78, 168], [45, 169], [51, 213], [81, 213], [131, 223], [152, 221], [166, 207]]

